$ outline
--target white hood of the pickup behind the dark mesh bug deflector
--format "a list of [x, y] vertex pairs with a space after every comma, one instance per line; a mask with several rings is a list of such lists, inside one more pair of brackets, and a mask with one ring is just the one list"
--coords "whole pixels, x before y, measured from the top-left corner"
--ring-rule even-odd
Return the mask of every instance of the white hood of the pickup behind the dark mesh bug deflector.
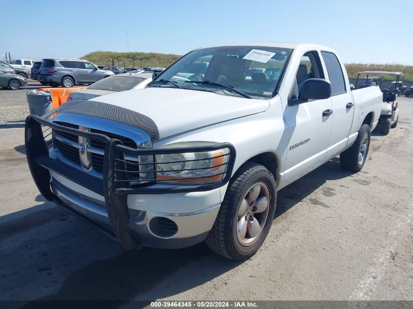
[[128, 108], [152, 118], [161, 139], [257, 114], [269, 106], [267, 100], [166, 87], [122, 91], [92, 100]]

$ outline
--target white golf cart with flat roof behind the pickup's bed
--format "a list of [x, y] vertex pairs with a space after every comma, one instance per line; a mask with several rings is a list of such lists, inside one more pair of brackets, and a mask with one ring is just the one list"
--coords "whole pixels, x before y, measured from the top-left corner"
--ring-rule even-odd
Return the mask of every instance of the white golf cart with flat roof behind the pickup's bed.
[[[365, 71], [359, 72], [357, 75], [357, 81], [355, 88], [357, 89], [357, 85], [362, 84], [362, 80], [364, 78], [360, 78], [360, 75], [367, 75], [366, 81], [369, 81], [369, 75], [395, 75], [396, 81], [393, 82], [395, 85], [399, 83], [400, 75], [403, 75], [402, 72], [386, 72], [386, 71]], [[371, 77], [370, 77], [371, 79]], [[360, 80], [360, 82], [359, 82]], [[379, 86], [375, 82], [371, 82], [371, 86]], [[391, 87], [389, 87], [391, 88]], [[389, 134], [390, 128], [395, 128], [397, 126], [397, 121], [399, 120], [399, 109], [397, 107], [398, 103], [395, 103], [396, 98], [398, 97], [396, 87], [392, 89], [384, 89], [383, 92], [383, 104], [381, 106], [381, 113], [379, 118], [379, 123], [377, 125], [377, 129], [384, 135]]]

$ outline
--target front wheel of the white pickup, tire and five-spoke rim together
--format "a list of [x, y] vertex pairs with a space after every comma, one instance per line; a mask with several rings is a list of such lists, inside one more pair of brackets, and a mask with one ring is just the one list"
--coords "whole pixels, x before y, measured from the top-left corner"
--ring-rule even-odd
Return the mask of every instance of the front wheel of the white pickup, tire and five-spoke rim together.
[[276, 202], [271, 172], [262, 165], [245, 163], [230, 180], [206, 244], [231, 260], [250, 258], [268, 235]]

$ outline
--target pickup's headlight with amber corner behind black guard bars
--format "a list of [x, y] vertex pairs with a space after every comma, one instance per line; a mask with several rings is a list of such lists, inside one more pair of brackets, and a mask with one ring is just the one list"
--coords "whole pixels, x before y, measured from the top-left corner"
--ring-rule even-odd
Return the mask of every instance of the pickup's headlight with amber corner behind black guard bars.
[[[211, 142], [183, 142], [161, 148], [208, 146]], [[225, 177], [230, 150], [184, 152], [156, 155], [156, 179], [160, 183], [213, 183]]]

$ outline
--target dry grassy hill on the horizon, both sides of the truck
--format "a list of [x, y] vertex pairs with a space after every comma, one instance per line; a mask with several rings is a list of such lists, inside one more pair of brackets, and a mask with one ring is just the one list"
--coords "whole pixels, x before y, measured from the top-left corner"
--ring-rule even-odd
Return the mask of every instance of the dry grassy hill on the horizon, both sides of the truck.
[[[167, 67], [172, 62], [176, 61], [180, 56], [173, 54], [159, 54], [159, 53], [115, 53], [96, 51], [89, 53], [82, 59], [93, 62], [96, 65], [111, 65], [112, 59], [115, 65], [124, 67]], [[348, 77], [357, 77], [360, 71], [401, 71], [404, 75], [401, 80], [413, 81], [413, 66], [402, 64], [375, 64], [375, 63], [346, 63]], [[392, 77], [385, 77], [385, 79], [392, 79]]]

